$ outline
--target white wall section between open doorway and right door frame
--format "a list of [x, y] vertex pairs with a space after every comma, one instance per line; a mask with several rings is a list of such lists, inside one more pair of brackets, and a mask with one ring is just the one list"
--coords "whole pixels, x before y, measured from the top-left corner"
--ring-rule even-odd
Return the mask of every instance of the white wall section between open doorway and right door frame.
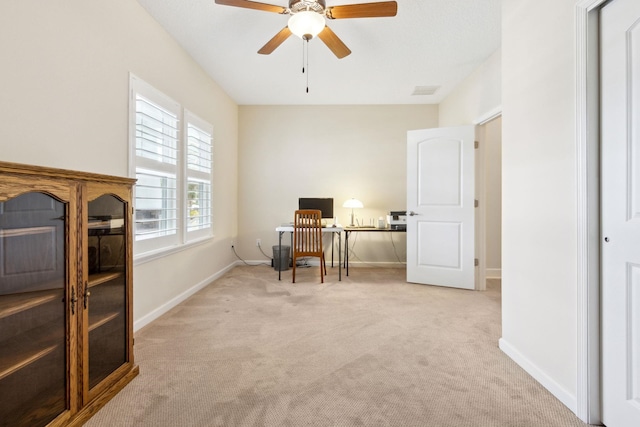
[[574, 412], [575, 4], [503, 2], [500, 343]]

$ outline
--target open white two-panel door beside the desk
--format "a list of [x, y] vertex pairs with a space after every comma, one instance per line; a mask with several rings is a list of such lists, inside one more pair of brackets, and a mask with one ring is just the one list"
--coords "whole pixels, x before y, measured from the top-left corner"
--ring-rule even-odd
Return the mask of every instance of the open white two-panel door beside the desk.
[[407, 133], [407, 281], [475, 289], [473, 126]]

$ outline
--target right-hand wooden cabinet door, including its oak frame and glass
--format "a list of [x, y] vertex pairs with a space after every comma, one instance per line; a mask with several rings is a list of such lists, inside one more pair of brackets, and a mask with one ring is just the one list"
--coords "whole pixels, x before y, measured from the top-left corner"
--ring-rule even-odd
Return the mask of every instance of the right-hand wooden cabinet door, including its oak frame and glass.
[[131, 361], [130, 209], [127, 191], [89, 186], [84, 247], [83, 382], [85, 403]]

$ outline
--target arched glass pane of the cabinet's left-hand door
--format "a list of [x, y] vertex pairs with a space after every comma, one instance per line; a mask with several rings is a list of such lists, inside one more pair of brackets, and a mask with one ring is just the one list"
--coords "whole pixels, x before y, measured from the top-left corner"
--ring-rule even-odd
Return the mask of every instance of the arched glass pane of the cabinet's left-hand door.
[[0, 202], [0, 426], [43, 426], [69, 406], [66, 210], [39, 192]]

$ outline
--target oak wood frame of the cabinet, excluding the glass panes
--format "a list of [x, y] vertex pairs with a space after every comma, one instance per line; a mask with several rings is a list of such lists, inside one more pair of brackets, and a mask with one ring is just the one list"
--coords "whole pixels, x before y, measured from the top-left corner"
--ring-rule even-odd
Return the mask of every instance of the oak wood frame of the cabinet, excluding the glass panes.
[[[66, 409], [48, 426], [82, 425], [137, 374], [133, 355], [133, 207], [132, 187], [135, 180], [110, 175], [76, 172], [42, 166], [28, 166], [0, 162], [0, 202], [22, 194], [37, 192], [51, 196], [66, 205], [65, 220], [65, 354], [66, 354]], [[109, 371], [94, 387], [89, 387], [89, 318], [87, 300], [82, 296], [89, 286], [89, 219], [88, 206], [92, 200], [104, 195], [122, 202], [125, 241], [124, 252], [124, 312], [126, 355], [124, 363]], [[95, 276], [95, 275], [94, 275]], [[106, 277], [106, 275], [103, 275]], [[104, 278], [103, 277], [103, 278]], [[115, 277], [112, 275], [112, 278]], [[109, 277], [106, 277], [109, 279]], [[46, 298], [44, 296], [43, 298]], [[8, 307], [0, 311], [14, 313], [19, 310], [14, 299], [6, 298]], [[29, 302], [22, 302], [28, 306]], [[91, 302], [89, 301], [90, 305]], [[12, 307], [13, 305], [13, 307]], [[0, 366], [2, 366], [0, 360]], [[20, 363], [15, 364], [20, 366]], [[18, 369], [16, 368], [16, 369]], [[1, 379], [0, 379], [1, 381]], [[37, 412], [38, 408], [34, 408]]]

